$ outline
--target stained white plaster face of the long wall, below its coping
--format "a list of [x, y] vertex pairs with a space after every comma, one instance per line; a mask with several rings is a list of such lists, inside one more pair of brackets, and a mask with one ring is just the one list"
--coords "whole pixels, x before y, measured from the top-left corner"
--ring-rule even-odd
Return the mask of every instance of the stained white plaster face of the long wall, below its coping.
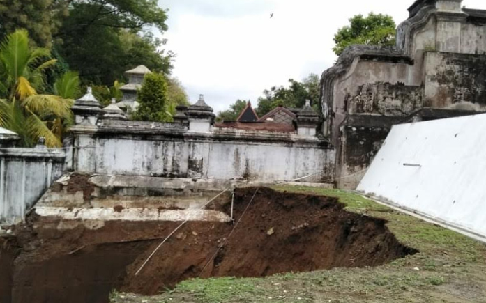
[[317, 173], [305, 181], [333, 179], [334, 150], [321, 147], [315, 137], [307, 144], [236, 139], [94, 139], [82, 135], [76, 139], [82, 147], [76, 148], [75, 167], [82, 173], [174, 178], [250, 178], [267, 182]]

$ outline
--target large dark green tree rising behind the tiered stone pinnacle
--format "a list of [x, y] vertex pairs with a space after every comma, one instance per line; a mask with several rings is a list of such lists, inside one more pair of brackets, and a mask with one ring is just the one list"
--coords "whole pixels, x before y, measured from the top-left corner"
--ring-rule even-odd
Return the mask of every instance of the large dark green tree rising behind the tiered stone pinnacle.
[[124, 71], [142, 64], [169, 74], [173, 54], [160, 50], [165, 40], [148, 31], [150, 26], [167, 30], [166, 20], [156, 0], [75, 0], [55, 47], [85, 84], [123, 81]]

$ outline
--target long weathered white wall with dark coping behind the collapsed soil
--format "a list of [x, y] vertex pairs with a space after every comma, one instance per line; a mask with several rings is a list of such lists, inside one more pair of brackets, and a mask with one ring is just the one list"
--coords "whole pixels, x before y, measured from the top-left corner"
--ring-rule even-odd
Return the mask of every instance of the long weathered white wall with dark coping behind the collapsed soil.
[[335, 153], [317, 137], [234, 129], [191, 132], [177, 123], [132, 121], [76, 125], [73, 134], [74, 169], [82, 173], [262, 182], [315, 174], [305, 181], [333, 181]]

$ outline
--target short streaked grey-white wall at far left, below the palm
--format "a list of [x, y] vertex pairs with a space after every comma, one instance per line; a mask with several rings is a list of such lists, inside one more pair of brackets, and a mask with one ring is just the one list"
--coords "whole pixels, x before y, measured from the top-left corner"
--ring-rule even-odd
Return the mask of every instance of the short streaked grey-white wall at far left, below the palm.
[[0, 222], [24, 217], [62, 175], [64, 157], [46, 148], [0, 148]]

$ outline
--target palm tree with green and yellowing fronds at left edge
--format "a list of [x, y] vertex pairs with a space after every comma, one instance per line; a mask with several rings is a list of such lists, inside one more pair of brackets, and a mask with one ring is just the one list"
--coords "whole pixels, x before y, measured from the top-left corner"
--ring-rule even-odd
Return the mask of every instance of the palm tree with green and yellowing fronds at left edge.
[[29, 35], [20, 29], [0, 45], [0, 126], [17, 132], [24, 146], [45, 137], [48, 147], [61, 147], [66, 122], [72, 121], [70, 107], [79, 90], [79, 78], [66, 73], [54, 84], [58, 95], [45, 90], [45, 71], [56, 63], [50, 51], [29, 47]]

